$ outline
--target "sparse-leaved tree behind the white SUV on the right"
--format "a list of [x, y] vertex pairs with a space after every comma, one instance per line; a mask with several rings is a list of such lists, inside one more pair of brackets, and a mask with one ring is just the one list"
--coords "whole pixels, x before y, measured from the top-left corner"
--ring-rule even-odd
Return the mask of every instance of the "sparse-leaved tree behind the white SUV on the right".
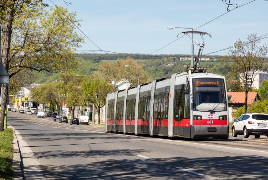
[[[241, 86], [246, 93], [245, 104], [247, 104], [247, 93], [252, 90], [256, 74], [267, 66], [267, 46], [259, 46], [260, 42], [256, 34], [249, 35], [247, 43], [239, 39], [235, 42], [235, 49], [230, 49], [228, 56], [221, 59], [221, 63], [226, 64], [230, 69], [226, 72], [230, 77], [241, 78]], [[247, 106], [244, 108], [247, 113]]]

